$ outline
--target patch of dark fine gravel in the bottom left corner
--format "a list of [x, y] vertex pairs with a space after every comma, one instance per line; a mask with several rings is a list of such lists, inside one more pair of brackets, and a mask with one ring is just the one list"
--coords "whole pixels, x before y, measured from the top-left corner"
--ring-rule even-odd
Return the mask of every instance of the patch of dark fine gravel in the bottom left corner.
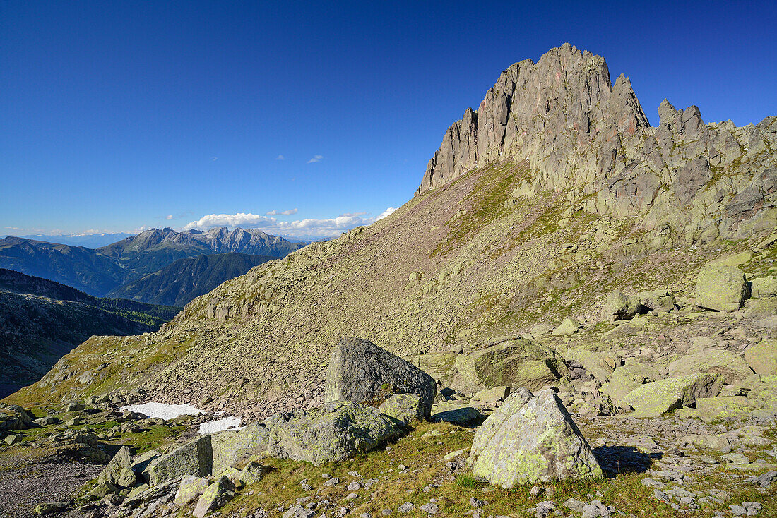
[[[82, 463], [31, 463], [0, 471], [0, 516], [34, 516], [43, 502], [71, 499], [76, 489], [95, 478], [104, 466]], [[48, 516], [82, 516], [77, 510]]]

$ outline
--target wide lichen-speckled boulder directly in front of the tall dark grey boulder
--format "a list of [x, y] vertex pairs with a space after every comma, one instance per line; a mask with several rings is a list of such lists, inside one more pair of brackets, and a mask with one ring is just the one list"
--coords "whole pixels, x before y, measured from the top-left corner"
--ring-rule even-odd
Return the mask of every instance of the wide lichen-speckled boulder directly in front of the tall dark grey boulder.
[[329, 402], [322, 408], [280, 415], [270, 429], [273, 457], [318, 466], [343, 461], [401, 436], [402, 427], [378, 408], [356, 402]]

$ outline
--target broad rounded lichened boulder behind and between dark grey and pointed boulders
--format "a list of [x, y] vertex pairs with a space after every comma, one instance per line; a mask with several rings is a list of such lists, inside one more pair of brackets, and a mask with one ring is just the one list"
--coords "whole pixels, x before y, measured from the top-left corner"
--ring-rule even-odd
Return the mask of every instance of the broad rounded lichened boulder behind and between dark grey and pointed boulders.
[[556, 351], [518, 336], [492, 339], [472, 353], [456, 357], [462, 385], [472, 391], [502, 386], [536, 390], [567, 374]]

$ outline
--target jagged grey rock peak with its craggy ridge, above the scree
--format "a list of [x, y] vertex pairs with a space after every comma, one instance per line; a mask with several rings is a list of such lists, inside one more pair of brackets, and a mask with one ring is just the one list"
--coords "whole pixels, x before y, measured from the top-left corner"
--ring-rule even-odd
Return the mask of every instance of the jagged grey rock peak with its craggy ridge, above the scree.
[[647, 230], [668, 225], [692, 242], [773, 226], [777, 117], [706, 124], [697, 106], [666, 99], [658, 113], [650, 127], [629, 79], [612, 85], [603, 57], [566, 43], [502, 72], [445, 133], [416, 194], [493, 161], [527, 161], [531, 178], [513, 196], [570, 189], [589, 213], [641, 214]]

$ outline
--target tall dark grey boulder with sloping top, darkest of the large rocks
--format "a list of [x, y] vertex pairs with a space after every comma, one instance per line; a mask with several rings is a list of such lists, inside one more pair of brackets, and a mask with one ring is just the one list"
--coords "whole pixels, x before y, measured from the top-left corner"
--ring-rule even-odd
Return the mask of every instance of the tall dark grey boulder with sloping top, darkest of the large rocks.
[[335, 346], [326, 370], [326, 401], [378, 406], [395, 394], [423, 398], [426, 415], [434, 403], [434, 378], [369, 340], [353, 336]]

